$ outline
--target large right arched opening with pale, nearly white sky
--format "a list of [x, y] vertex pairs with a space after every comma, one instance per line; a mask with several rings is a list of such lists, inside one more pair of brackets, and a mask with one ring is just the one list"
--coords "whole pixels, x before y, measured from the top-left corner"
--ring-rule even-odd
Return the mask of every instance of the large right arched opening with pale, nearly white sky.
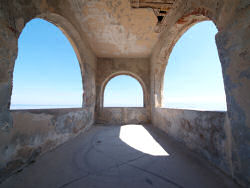
[[203, 21], [178, 40], [164, 75], [163, 107], [226, 111], [216, 26]]

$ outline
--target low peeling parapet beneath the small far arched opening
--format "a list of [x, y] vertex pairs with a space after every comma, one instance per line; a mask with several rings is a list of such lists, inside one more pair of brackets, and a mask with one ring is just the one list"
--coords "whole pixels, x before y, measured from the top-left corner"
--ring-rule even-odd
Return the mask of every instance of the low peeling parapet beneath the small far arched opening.
[[150, 114], [146, 108], [105, 107], [97, 115], [96, 123], [105, 125], [149, 124]]

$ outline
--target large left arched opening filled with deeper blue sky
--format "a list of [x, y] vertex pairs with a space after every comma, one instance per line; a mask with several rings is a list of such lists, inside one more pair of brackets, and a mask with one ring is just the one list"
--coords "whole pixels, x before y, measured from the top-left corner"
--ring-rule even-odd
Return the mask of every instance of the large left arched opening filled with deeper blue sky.
[[18, 40], [10, 109], [82, 106], [82, 77], [69, 40], [43, 19], [26, 24]]

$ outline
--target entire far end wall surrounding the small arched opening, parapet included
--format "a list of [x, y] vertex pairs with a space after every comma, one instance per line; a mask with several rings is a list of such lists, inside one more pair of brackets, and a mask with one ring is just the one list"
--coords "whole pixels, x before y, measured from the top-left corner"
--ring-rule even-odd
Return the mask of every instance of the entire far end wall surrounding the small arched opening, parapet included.
[[[147, 58], [98, 58], [96, 72], [97, 123], [123, 124], [149, 122], [150, 119], [150, 70]], [[144, 93], [143, 108], [105, 108], [103, 97], [106, 84], [115, 76], [129, 75], [137, 79]], [[132, 112], [134, 114], [132, 115]], [[119, 114], [121, 113], [121, 114]], [[131, 115], [131, 116], [130, 116]]]

